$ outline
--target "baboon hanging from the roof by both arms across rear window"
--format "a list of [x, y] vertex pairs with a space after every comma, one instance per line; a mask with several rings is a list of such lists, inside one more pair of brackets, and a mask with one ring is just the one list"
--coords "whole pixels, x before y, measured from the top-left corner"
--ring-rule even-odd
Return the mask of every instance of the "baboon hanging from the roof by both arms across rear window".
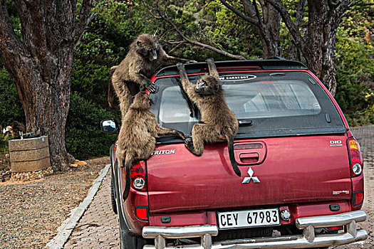
[[214, 143], [226, 140], [229, 144], [229, 157], [235, 174], [241, 172], [234, 158], [234, 137], [239, 124], [234, 112], [229, 109], [224, 100], [224, 91], [219, 84], [219, 75], [212, 58], [207, 59], [210, 75], [203, 75], [196, 85], [189, 82], [185, 66], [177, 64], [180, 72], [182, 87], [189, 99], [197, 105], [201, 114], [200, 124], [192, 127], [192, 141], [187, 138], [185, 145], [189, 152], [201, 156], [204, 151], [204, 142]]

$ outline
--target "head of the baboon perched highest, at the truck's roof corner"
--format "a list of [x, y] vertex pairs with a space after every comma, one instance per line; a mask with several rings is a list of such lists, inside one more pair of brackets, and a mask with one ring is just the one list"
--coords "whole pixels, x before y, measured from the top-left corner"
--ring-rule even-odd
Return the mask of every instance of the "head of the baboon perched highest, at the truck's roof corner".
[[157, 60], [157, 52], [160, 49], [160, 43], [155, 36], [144, 33], [138, 36], [136, 41], [137, 53], [150, 61]]

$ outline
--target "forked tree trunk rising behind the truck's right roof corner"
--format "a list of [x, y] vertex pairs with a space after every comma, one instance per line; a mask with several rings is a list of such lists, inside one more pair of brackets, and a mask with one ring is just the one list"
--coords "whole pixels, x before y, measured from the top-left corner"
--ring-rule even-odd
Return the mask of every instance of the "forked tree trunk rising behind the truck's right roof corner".
[[[336, 68], [334, 46], [336, 32], [343, 14], [354, 3], [350, 0], [308, 0], [308, 31], [301, 36], [298, 23], [291, 16], [280, 0], [266, 0], [281, 14], [287, 28], [300, 48], [306, 65], [322, 80], [331, 94], [336, 93]], [[299, 0], [303, 1], [303, 0]], [[299, 2], [299, 6], [302, 3]], [[298, 19], [298, 18], [296, 18]]]

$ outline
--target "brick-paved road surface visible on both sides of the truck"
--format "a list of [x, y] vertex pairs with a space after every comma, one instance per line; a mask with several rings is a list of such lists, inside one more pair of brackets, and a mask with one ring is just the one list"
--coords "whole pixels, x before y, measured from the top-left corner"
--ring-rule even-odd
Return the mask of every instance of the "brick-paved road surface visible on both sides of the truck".
[[[341, 245], [331, 249], [374, 248], [374, 126], [353, 128], [352, 132], [360, 143], [365, 161], [363, 210], [368, 214], [368, 219], [358, 223], [358, 226], [368, 231], [369, 237], [361, 243]], [[108, 174], [64, 248], [119, 248], [118, 230], [118, 218], [110, 204], [110, 174]]]

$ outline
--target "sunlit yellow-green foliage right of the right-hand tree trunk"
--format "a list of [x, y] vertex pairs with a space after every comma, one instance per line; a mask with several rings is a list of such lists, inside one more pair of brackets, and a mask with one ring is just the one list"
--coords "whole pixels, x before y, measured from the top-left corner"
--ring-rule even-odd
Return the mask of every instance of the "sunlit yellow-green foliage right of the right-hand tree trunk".
[[[370, 1], [373, 4], [364, 3]], [[373, 9], [365, 8], [348, 11], [335, 43], [335, 97], [352, 126], [374, 124]]]

